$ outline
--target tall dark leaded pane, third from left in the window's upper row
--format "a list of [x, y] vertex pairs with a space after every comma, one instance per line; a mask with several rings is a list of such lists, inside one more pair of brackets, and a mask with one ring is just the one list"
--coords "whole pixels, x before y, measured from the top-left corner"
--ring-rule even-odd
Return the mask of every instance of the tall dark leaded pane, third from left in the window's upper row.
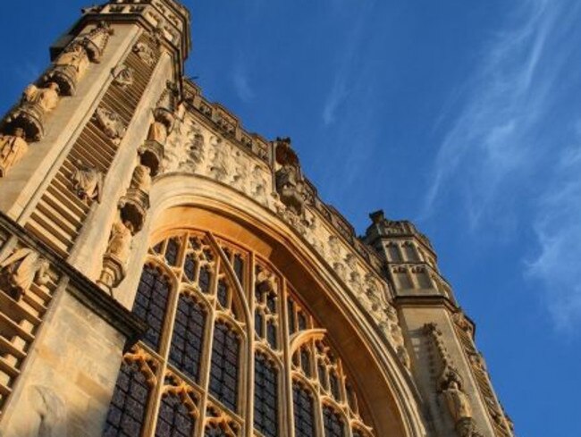
[[218, 321], [214, 329], [210, 392], [227, 408], [236, 411], [240, 340], [227, 324]]

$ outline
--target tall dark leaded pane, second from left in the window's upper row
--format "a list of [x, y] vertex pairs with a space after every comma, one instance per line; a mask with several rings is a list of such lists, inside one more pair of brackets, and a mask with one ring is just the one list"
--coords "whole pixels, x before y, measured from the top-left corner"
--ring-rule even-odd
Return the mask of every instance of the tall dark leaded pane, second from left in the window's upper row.
[[206, 313], [193, 298], [181, 295], [173, 324], [170, 362], [198, 382]]

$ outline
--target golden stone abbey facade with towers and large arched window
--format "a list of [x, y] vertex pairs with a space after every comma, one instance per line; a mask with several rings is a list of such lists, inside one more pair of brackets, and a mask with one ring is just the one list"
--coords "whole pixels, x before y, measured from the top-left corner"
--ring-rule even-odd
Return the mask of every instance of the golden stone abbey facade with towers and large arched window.
[[0, 435], [512, 436], [430, 241], [358, 238], [189, 44], [89, 7], [0, 123]]

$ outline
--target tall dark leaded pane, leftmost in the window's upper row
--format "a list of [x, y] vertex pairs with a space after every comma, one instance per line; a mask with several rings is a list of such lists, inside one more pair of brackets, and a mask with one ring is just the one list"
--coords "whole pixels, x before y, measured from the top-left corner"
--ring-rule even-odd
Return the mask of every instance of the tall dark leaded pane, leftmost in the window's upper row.
[[146, 265], [139, 280], [133, 313], [147, 324], [144, 340], [154, 349], [159, 348], [169, 292], [168, 280], [154, 267]]

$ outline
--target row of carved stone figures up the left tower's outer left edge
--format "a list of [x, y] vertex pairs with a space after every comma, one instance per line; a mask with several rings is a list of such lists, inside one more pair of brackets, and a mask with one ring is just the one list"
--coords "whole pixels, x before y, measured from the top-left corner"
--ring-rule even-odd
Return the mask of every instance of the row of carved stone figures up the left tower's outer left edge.
[[5, 176], [29, 149], [29, 142], [45, 135], [46, 116], [61, 97], [72, 96], [89, 63], [99, 63], [113, 30], [105, 22], [75, 38], [36, 84], [29, 85], [21, 101], [4, 118], [0, 128], [0, 177]]

